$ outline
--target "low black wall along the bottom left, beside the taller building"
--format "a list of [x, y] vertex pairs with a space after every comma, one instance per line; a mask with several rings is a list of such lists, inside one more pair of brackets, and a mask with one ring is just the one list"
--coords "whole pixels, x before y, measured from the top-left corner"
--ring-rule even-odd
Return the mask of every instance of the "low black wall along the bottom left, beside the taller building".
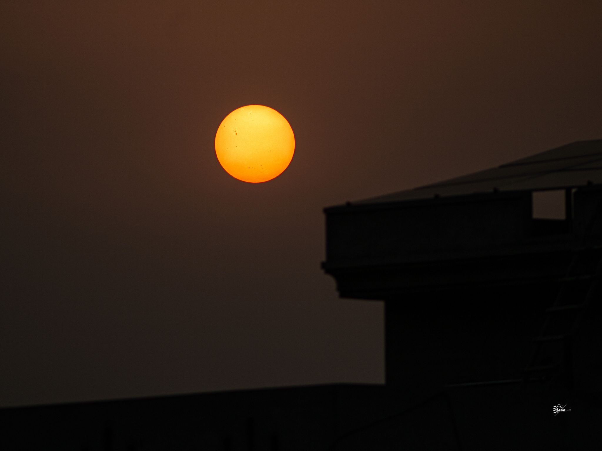
[[0, 450], [327, 449], [364, 423], [363, 406], [383, 390], [333, 384], [0, 409]]

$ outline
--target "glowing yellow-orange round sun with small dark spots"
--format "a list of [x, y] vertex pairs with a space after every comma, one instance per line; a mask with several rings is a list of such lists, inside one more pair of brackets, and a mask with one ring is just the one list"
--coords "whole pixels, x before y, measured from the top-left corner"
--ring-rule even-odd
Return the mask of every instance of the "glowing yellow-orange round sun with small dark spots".
[[281, 175], [293, 159], [295, 136], [278, 111], [247, 105], [228, 114], [216, 133], [216, 155], [232, 177], [249, 183]]

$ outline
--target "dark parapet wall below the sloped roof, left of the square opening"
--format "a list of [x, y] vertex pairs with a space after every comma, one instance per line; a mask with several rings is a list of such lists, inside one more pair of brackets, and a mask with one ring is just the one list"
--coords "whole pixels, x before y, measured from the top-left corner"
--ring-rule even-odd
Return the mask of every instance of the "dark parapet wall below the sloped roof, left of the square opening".
[[528, 234], [528, 192], [491, 193], [326, 210], [329, 263], [411, 260], [417, 255], [498, 247]]

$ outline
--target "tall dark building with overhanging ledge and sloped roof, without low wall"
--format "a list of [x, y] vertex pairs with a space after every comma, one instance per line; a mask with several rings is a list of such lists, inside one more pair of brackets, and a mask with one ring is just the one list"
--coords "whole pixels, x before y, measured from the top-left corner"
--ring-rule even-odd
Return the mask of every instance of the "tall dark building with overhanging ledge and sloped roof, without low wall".
[[[341, 296], [385, 302], [386, 385], [403, 406], [445, 394], [462, 449], [589, 449], [602, 419], [601, 184], [597, 140], [326, 209], [324, 270]], [[546, 201], [556, 219], [536, 217]], [[571, 412], [554, 423], [558, 403]]]

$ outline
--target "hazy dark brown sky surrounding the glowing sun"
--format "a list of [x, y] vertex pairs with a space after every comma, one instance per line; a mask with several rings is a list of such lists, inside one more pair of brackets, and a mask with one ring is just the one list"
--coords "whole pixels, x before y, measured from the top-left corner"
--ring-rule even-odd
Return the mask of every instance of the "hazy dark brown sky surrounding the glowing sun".
[[[213, 3], [213, 6], [206, 4]], [[382, 382], [322, 208], [602, 137], [602, 2], [2, 2], [0, 405]], [[214, 137], [290, 122], [263, 184]]]

